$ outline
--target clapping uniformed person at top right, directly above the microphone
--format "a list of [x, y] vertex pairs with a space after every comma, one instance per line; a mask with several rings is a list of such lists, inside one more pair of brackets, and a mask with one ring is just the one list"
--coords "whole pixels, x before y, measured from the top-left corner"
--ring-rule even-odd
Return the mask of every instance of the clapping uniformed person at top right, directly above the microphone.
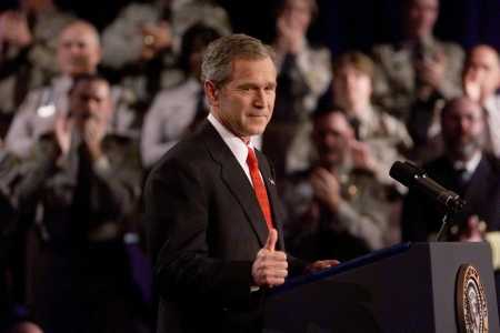
[[378, 65], [374, 97], [387, 110], [408, 119], [416, 100], [460, 93], [462, 49], [433, 36], [439, 0], [403, 1], [403, 39], [373, 49]]

